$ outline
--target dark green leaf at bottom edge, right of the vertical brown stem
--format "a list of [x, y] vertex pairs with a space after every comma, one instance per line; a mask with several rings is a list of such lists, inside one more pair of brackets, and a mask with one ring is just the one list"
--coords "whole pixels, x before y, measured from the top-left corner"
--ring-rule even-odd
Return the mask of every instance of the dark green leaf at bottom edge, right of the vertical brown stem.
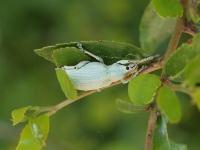
[[154, 130], [153, 150], [187, 150], [186, 145], [177, 144], [169, 139], [167, 121], [162, 116], [158, 117]]

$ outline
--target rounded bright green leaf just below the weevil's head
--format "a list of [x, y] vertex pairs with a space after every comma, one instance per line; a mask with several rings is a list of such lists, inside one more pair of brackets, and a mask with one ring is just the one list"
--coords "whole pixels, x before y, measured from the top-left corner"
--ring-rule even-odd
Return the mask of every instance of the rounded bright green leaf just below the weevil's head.
[[156, 75], [139, 75], [129, 82], [128, 94], [135, 105], [146, 105], [153, 101], [160, 85], [160, 79]]

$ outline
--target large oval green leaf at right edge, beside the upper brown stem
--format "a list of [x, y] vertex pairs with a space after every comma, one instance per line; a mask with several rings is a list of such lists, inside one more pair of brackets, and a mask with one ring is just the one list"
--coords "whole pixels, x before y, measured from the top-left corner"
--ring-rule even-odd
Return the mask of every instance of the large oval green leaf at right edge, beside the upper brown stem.
[[181, 77], [186, 65], [199, 54], [200, 34], [197, 34], [193, 38], [192, 44], [182, 44], [177, 51], [169, 57], [164, 66], [165, 75], [172, 79]]

